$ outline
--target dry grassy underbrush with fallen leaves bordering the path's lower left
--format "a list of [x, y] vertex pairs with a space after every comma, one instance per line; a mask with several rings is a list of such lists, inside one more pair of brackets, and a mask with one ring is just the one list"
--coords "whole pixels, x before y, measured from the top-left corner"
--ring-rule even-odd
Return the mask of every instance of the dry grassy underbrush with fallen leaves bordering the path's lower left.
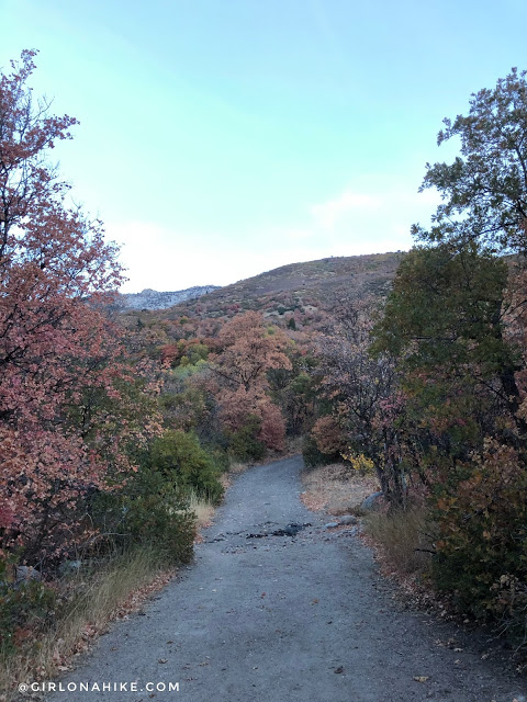
[[46, 592], [53, 609], [37, 615], [34, 608], [35, 616], [14, 631], [15, 646], [0, 654], [0, 700], [11, 699], [21, 682], [49, 679], [68, 669], [71, 657], [86, 650], [110, 620], [137, 609], [172, 574], [161, 553], [137, 547], [48, 585], [27, 582], [13, 590]]

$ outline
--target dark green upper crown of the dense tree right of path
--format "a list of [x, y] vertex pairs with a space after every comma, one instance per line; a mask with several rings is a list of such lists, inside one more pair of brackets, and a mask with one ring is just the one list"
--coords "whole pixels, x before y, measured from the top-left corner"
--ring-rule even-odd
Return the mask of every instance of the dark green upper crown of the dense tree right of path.
[[441, 369], [445, 377], [478, 382], [515, 415], [520, 359], [504, 338], [506, 284], [506, 263], [473, 242], [414, 249], [401, 263], [373, 350], [404, 359], [408, 371]]

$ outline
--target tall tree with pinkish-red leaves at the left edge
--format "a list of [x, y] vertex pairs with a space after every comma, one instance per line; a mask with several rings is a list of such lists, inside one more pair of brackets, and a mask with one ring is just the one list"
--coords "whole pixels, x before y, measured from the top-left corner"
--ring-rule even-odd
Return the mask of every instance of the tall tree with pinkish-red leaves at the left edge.
[[143, 430], [120, 415], [133, 378], [103, 314], [117, 250], [47, 163], [77, 120], [35, 103], [34, 56], [0, 78], [0, 536], [36, 558], [75, 539], [79, 503], [130, 469], [123, 442]]

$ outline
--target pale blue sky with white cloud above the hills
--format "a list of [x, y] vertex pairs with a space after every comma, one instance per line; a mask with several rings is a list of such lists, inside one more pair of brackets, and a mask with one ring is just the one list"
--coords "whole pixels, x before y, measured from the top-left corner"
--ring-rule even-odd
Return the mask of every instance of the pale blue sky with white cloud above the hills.
[[410, 248], [445, 116], [527, 68], [525, 0], [0, 0], [0, 67], [80, 121], [54, 152], [130, 282]]

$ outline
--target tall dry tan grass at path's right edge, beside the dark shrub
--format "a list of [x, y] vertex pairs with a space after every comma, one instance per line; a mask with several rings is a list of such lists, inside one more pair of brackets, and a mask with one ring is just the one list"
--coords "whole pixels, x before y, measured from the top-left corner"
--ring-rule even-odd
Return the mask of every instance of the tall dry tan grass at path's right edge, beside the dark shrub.
[[431, 537], [427, 535], [427, 513], [423, 508], [393, 513], [369, 512], [366, 532], [375, 542], [380, 561], [393, 571], [422, 577], [430, 568]]

